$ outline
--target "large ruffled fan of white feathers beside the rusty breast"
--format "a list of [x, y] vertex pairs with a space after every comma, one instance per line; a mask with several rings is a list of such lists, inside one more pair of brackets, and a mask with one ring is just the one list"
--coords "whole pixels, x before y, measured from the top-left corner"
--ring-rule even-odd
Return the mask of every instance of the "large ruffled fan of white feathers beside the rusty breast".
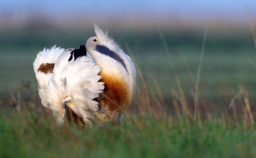
[[92, 99], [104, 89], [104, 84], [98, 82], [100, 67], [90, 57], [82, 56], [76, 60], [73, 57], [68, 62], [69, 57], [68, 52], [58, 57], [50, 81], [39, 90], [39, 96], [43, 106], [53, 110], [59, 123], [63, 122], [65, 106], [68, 106], [90, 124], [87, 119], [93, 119], [90, 111], [98, 110], [98, 103]]

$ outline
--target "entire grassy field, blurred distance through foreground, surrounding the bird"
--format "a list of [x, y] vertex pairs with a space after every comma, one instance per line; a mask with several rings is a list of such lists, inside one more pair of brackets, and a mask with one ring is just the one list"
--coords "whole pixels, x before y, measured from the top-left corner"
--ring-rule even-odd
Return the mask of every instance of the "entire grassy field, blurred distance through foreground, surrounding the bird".
[[195, 118], [204, 28], [174, 30], [163, 30], [169, 54], [157, 29], [109, 30], [128, 53], [127, 43], [137, 63], [137, 94], [122, 125], [89, 130], [55, 125], [41, 106], [33, 60], [43, 47], [85, 44], [92, 30], [1, 28], [0, 157], [256, 157], [250, 30], [218, 33], [209, 27]]

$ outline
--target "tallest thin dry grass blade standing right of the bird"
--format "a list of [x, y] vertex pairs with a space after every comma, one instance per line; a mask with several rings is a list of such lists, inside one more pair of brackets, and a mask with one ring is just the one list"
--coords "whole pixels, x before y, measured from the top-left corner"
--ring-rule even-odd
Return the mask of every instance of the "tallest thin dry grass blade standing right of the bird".
[[195, 110], [194, 110], [194, 120], [196, 120], [196, 115], [198, 116], [198, 121], [201, 121], [201, 115], [199, 113], [199, 107], [198, 107], [198, 89], [199, 89], [199, 81], [200, 81], [200, 75], [201, 75], [201, 67], [202, 67], [202, 62], [203, 62], [203, 53], [206, 45], [206, 37], [207, 37], [207, 32], [208, 32], [208, 23], [206, 24], [206, 29], [203, 34], [203, 44], [202, 44], [202, 49], [201, 49], [201, 55], [200, 55], [200, 60], [199, 60], [199, 65], [198, 65], [198, 74], [196, 77], [196, 91], [195, 91]]

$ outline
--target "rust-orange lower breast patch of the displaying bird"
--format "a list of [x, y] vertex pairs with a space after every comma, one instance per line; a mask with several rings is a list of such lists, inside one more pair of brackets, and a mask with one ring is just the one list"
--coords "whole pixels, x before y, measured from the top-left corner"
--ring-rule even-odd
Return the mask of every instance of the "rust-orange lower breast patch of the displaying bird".
[[[99, 108], [102, 113], [119, 113], [121, 115], [129, 108], [131, 103], [131, 94], [127, 83], [121, 77], [112, 74], [100, 73], [101, 81], [105, 84], [105, 89], [101, 96], [97, 98], [99, 101]], [[107, 116], [111, 117], [111, 116]]]

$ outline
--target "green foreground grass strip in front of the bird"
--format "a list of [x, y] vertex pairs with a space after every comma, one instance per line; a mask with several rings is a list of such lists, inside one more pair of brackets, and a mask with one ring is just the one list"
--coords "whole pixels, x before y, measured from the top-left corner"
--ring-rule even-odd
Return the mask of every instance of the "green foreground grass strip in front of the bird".
[[0, 157], [256, 156], [255, 125], [229, 122], [227, 116], [200, 126], [188, 123], [184, 115], [178, 120], [167, 113], [141, 111], [127, 114], [122, 125], [88, 130], [68, 123], [59, 127], [50, 111], [33, 103], [21, 109], [0, 113]]

